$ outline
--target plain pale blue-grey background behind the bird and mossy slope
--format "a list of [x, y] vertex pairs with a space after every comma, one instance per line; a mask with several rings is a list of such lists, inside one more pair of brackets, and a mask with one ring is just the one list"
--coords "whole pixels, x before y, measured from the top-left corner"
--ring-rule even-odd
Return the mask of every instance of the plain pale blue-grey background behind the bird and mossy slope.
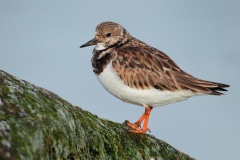
[[190, 74], [231, 85], [221, 97], [155, 108], [151, 135], [196, 159], [239, 159], [239, 8], [238, 0], [1, 0], [0, 69], [99, 117], [134, 122], [144, 108], [105, 91], [92, 72], [93, 47], [79, 48], [98, 23], [117, 22]]

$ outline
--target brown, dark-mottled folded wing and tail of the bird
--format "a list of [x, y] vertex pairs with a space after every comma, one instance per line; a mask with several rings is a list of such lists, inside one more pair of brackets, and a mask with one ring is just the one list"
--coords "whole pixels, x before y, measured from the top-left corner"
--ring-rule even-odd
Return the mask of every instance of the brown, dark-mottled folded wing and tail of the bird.
[[113, 67], [124, 83], [137, 89], [184, 89], [208, 94], [224, 90], [219, 83], [204, 81], [184, 72], [170, 57], [155, 48], [120, 48]]

